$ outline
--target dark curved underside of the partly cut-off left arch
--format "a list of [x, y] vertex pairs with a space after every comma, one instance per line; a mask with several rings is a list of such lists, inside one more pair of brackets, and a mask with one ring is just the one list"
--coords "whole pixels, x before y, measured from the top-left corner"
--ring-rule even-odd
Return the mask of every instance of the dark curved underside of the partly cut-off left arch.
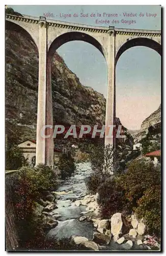
[[17, 31], [18, 33], [21, 32], [22, 35], [24, 35], [25, 37], [30, 38], [34, 42], [34, 44], [37, 48], [38, 56], [39, 56], [38, 46], [36, 45], [36, 42], [35, 42], [34, 38], [32, 37], [32, 35], [29, 32], [27, 32], [27, 30], [25, 30], [21, 26], [15, 24], [14, 22], [9, 22], [9, 20], [6, 20], [6, 29], [11, 30], [11, 31]]

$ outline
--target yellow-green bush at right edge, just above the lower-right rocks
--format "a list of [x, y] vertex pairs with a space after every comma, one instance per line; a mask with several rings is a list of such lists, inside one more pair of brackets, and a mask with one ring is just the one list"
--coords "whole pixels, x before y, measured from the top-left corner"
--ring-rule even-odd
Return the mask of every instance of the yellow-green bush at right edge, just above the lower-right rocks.
[[161, 187], [155, 185], [144, 192], [137, 201], [135, 214], [138, 218], [145, 218], [151, 233], [160, 233], [161, 230]]

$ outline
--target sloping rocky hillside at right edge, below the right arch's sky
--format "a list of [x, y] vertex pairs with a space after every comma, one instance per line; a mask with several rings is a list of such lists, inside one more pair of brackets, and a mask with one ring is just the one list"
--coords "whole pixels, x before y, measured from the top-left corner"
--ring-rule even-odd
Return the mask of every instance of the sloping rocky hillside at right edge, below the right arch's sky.
[[134, 142], [141, 141], [147, 134], [151, 134], [154, 139], [161, 136], [161, 104], [156, 111], [142, 122], [141, 130], [133, 135]]

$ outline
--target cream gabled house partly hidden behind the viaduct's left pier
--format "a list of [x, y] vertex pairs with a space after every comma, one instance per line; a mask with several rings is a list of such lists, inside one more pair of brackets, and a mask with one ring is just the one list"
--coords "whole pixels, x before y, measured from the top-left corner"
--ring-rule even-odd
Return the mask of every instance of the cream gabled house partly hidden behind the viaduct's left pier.
[[[31, 164], [35, 165], [36, 162], [36, 141], [35, 140], [25, 140], [18, 144], [18, 147], [22, 150], [23, 156], [25, 160]], [[60, 159], [60, 155], [62, 154], [62, 151], [54, 148], [54, 163], [58, 163]]]

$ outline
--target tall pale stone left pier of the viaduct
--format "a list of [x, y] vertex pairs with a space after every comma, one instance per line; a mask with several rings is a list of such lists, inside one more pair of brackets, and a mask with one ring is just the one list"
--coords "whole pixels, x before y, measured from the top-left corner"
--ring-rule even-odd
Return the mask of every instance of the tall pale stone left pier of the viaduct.
[[41, 130], [46, 124], [53, 126], [52, 93], [51, 93], [51, 62], [47, 60], [47, 26], [42, 20], [39, 26], [39, 86], [38, 86], [38, 113], [36, 136], [36, 166], [40, 163], [53, 166], [53, 138], [52, 129], [44, 130], [43, 138]]

